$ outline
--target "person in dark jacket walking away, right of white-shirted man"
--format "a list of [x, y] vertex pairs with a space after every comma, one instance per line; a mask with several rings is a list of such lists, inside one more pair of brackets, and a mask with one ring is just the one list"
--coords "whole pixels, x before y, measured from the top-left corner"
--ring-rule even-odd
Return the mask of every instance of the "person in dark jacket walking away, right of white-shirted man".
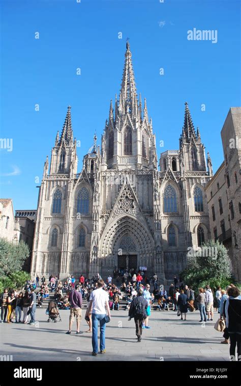
[[131, 302], [129, 310], [129, 320], [134, 318], [135, 321], [137, 342], [141, 342], [142, 323], [146, 318], [147, 307], [148, 303], [146, 299], [143, 298], [143, 288], [140, 287], [138, 289], [137, 297], [135, 297]]

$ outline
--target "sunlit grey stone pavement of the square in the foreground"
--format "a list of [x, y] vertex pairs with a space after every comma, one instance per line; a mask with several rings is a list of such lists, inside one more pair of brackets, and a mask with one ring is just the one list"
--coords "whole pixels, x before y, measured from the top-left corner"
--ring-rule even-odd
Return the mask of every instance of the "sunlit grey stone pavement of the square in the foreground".
[[[13, 361], [229, 361], [229, 345], [220, 344], [223, 333], [214, 329], [218, 319], [199, 323], [198, 311], [180, 320], [173, 311], [152, 311], [149, 325], [137, 343], [134, 320], [127, 311], [112, 311], [106, 326], [106, 353], [91, 356], [92, 334], [66, 335], [70, 311], [60, 311], [62, 322], [47, 322], [45, 308], [37, 308], [35, 326], [0, 323], [0, 355]], [[81, 330], [87, 330], [82, 311]]]

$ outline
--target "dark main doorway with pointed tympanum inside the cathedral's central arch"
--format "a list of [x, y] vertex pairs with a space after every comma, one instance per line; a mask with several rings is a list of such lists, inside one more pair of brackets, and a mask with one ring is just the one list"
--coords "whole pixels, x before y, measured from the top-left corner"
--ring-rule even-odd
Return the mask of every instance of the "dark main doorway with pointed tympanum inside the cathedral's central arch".
[[120, 271], [137, 271], [137, 247], [132, 237], [125, 235], [120, 240], [117, 262]]

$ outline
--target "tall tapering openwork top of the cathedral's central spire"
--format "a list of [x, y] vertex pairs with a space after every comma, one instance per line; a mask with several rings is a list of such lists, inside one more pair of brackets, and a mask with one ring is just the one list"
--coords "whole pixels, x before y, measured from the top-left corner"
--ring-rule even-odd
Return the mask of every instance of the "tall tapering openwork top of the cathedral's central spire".
[[135, 77], [132, 65], [132, 55], [130, 51], [129, 38], [126, 43], [125, 65], [123, 70], [122, 88], [120, 89], [120, 105], [123, 106], [125, 113], [133, 113], [137, 105], [137, 93]]

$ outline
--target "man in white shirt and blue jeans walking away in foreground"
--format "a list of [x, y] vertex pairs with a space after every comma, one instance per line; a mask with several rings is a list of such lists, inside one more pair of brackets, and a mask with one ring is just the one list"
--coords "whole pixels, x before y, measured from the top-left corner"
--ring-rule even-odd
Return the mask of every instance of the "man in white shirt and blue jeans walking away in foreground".
[[109, 295], [103, 289], [104, 281], [98, 280], [97, 289], [92, 292], [89, 298], [89, 305], [86, 311], [86, 316], [92, 312], [92, 355], [97, 356], [98, 354], [98, 322], [100, 321], [100, 353], [105, 353], [105, 317], [106, 310], [110, 318], [110, 307], [109, 307]]

